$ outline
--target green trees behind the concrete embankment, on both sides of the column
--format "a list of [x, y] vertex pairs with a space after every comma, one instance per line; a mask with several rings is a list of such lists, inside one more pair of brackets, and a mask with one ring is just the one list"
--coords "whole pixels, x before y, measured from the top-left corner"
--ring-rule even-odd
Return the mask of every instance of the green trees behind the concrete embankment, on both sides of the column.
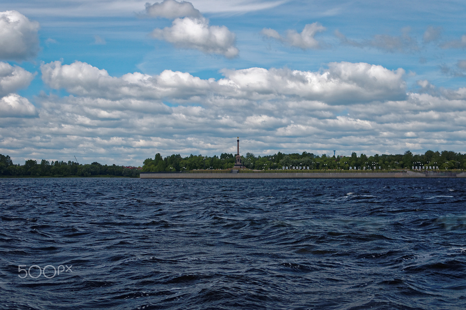
[[[220, 157], [204, 155], [193, 155], [181, 157], [180, 154], [172, 154], [165, 158], [157, 153], [154, 158], [144, 160], [142, 172], [176, 172], [204, 169], [229, 169], [234, 165], [233, 154], [222, 153]], [[404, 154], [375, 154], [367, 156], [353, 152], [351, 156], [321, 156], [313, 153], [302, 152], [284, 154], [281, 152], [273, 155], [255, 156], [253, 153], [246, 153], [241, 156], [241, 162], [249, 169], [269, 170], [282, 169], [282, 167], [309, 167], [312, 170], [349, 170], [349, 167], [356, 169], [411, 169], [416, 166], [434, 166], [439, 169], [466, 169], [466, 153], [456, 153], [453, 151], [434, 152], [427, 151], [424, 154], [413, 154], [406, 151]]]

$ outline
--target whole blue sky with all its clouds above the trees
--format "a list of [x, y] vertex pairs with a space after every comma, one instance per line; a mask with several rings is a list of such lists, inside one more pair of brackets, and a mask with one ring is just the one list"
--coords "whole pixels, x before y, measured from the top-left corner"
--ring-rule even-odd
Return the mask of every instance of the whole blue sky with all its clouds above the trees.
[[462, 0], [3, 0], [0, 153], [466, 152]]

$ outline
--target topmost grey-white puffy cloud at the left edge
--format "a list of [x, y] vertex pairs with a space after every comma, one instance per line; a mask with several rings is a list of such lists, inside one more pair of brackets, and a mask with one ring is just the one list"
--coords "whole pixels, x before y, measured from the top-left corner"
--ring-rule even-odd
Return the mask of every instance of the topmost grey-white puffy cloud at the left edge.
[[39, 51], [39, 23], [17, 11], [0, 12], [0, 59], [27, 60]]

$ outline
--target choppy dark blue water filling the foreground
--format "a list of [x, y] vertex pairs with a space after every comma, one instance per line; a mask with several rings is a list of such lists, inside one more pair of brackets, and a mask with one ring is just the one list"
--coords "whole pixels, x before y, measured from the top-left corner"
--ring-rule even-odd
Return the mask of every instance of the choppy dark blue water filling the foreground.
[[465, 309], [465, 183], [0, 179], [0, 309]]

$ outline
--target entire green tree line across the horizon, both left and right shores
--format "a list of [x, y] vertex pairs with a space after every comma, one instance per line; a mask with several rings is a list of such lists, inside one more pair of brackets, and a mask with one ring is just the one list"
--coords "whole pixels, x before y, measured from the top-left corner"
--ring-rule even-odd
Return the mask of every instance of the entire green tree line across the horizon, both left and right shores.
[[[45, 159], [41, 163], [36, 160], [26, 160], [24, 165], [14, 164], [10, 156], [0, 154], [0, 175], [1, 176], [49, 176], [49, 177], [90, 177], [90, 176], [122, 176], [139, 177], [139, 172], [179, 172], [190, 170], [208, 169], [230, 169], [233, 167], [235, 157], [231, 153], [222, 153], [212, 157], [204, 155], [193, 155], [182, 157], [180, 154], [172, 154], [162, 157], [157, 153], [155, 157], [144, 160], [142, 170], [129, 169], [118, 165], [102, 165], [97, 162], [92, 164], [79, 164], [74, 161], [52, 161]], [[246, 153], [241, 156], [241, 162], [249, 169], [274, 170], [282, 167], [309, 167], [312, 170], [349, 170], [349, 167], [356, 169], [367, 167], [372, 169], [411, 169], [413, 166], [434, 166], [439, 169], [466, 169], [466, 153], [456, 153], [453, 151], [433, 152], [427, 151], [424, 154], [413, 154], [410, 151], [396, 155], [372, 155], [367, 156], [353, 152], [351, 156], [321, 156], [313, 153], [290, 153], [277, 152], [273, 155], [255, 156], [253, 153]]]

